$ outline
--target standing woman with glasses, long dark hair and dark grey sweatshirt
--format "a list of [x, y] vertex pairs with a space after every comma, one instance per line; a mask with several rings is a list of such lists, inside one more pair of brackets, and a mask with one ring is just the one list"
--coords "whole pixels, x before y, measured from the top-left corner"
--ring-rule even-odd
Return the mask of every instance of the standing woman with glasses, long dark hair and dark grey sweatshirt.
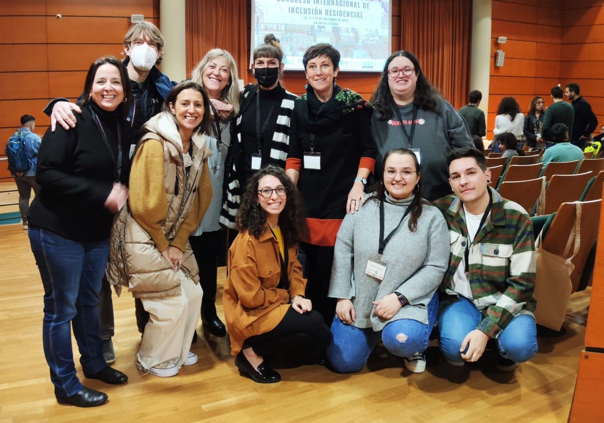
[[445, 161], [455, 147], [474, 145], [461, 115], [430, 85], [417, 58], [408, 51], [391, 54], [371, 96], [371, 134], [377, 154], [374, 175], [390, 150], [405, 147], [419, 155], [426, 199], [451, 193]]

